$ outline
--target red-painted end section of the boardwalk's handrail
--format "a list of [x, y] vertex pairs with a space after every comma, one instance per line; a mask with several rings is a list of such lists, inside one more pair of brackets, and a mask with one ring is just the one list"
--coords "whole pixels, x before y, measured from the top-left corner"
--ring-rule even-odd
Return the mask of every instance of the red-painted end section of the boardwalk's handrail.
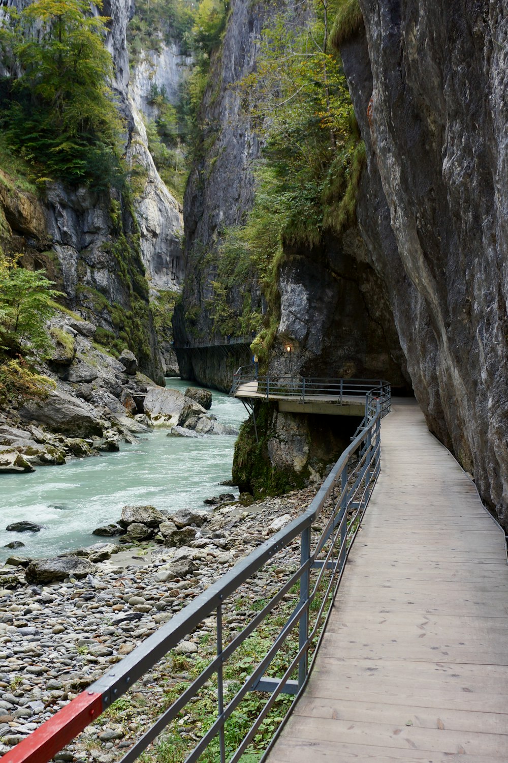
[[102, 696], [82, 691], [27, 739], [6, 752], [0, 763], [47, 763], [101, 715]]

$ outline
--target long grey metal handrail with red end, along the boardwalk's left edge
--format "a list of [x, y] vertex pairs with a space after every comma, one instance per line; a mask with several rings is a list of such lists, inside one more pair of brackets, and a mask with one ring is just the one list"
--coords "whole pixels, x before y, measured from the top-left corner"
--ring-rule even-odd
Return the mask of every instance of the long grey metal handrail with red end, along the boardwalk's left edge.
[[[2, 758], [2, 763], [49, 761], [88, 723], [95, 721], [111, 703], [125, 694], [135, 681], [164, 657], [168, 649], [188, 637], [209, 617], [213, 617], [216, 623], [216, 657], [124, 755], [122, 763], [136, 761], [165, 726], [179, 716], [187, 703], [195, 699], [201, 687], [204, 684], [210, 685], [209, 681], [216, 687], [216, 716], [210, 718], [209, 728], [203, 732], [202, 738], [187, 756], [187, 763], [197, 761], [211, 742], [217, 745], [217, 757], [214, 759], [218, 763], [239, 761], [270, 713], [276, 697], [283, 692], [299, 694], [312, 667], [312, 655], [315, 655], [334, 601], [350, 543], [359, 529], [379, 475], [382, 411], [379, 400], [375, 401], [374, 392], [370, 394], [372, 398], [369, 410], [372, 416], [366, 427], [340, 456], [305, 513], [261, 543], [133, 652], [113, 665], [88, 690], [78, 694], [78, 697], [8, 752]], [[231, 640], [228, 641], [222, 620], [226, 600], [235, 593], [238, 595], [238, 588], [262, 572], [268, 562], [276, 564], [277, 555], [295, 539], [299, 539], [299, 564], [286, 573], [287, 579], [276, 593], [270, 600], [262, 601], [262, 609], [253, 612], [248, 624], [241, 631], [232, 633]], [[291, 603], [292, 596], [294, 601]], [[284, 613], [282, 624], [281, 608]], [[233, 690], [231, 682], [225, 686], [223, 677], [228, 660], [270, 616], [273, 616], [270, 624], [275, 616], [278, 619], [273, 642], [267, 647], [264, 656], [259, 658], [257, 665], [249, 666], [250, 673], [244, 679], [239, 678]], [[289, 638], [291, 635], [292, 638]], [[270, 668], [276, 656], [276, 668]], [[312, 662], [309, 665], [311, 656]], [[244, 666], [242, 670], [245, 670]], [[267, 676], [267, 671], [272, 675]], [[236, 723], [232, 713], [251, 691], [264, 692], [258, 697], [266, 701], [236, 749], [226, 749], [225, 731], [230, 728], [228, 723]]]

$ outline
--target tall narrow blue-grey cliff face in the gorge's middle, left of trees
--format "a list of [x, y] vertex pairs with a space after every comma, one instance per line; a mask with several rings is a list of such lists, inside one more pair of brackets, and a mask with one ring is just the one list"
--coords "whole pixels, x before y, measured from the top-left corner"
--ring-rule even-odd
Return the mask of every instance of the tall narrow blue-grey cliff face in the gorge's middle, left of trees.
[[[234, 85], [255, 65], [265, 13], [247, 0], [232, 2], [222, 50], [212, 60], [210, 85], [202, 105], [206, 116], [203, 156], [190, 173], [184, 198], [186, 280], [183, 302], [174, 317], [177, 345], [185, 346], [198, 336], [213, 338], [206, 301], [212, 298], [216, 270], [212, 262], [205, 262], [206, 255], [215, 249], [224, 227], [244, 220], [254, 200], [252, 166], [260, 146], [241, 113], [241, 98]], [[256, 298], [260, 298], [259, 292], [253, 296]], [[238, 307], [243, 299], [239, 288], [234, 299]], [[248, 359], [245, 353], [241, 362]], [[186, 378], [200, 378], [203, 383], [224, 388], [212, 366], [207, 372], [203, 364], [193, 369], [193, 362], [189, 355]]]

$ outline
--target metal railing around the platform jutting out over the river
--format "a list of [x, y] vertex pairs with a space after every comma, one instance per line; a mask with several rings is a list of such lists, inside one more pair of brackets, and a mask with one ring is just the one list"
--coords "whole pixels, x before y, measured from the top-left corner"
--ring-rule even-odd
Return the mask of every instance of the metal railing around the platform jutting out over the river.
[[[310, 401], [328, 401], [339, 405], [348, 398], [366, 398], [365, 426], [372, 410], [368, 410], [368, 401], [379, 401], [382, 413], [389, 413], [391, 389], [383, 379], [353, 378], [306, 378], [302, 376], [261, 376], [257, 375], [253, 365], [244, 365], [233, 374], [233, 385], [229, 394], [235, 395], [242, 385], [251, 385], [253, 397], [297, 398], [302, 403]], [[247, 388], [245, 394], [248, 394]], [[371, 406], [372, 409], [372, 406]]]

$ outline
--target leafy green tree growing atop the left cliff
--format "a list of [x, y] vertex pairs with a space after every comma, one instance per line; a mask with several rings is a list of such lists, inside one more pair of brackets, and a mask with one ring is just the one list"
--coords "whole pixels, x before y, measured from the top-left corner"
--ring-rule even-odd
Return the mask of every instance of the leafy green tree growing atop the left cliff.
[[106, 24], [84, 0], [36, 0], [3, 20], [0, 43], [21, 76], [8, 83], [2, 117], [12, 148], [39, 177], [104, 187], [118, 174], [121, 123], [107, 85]]

